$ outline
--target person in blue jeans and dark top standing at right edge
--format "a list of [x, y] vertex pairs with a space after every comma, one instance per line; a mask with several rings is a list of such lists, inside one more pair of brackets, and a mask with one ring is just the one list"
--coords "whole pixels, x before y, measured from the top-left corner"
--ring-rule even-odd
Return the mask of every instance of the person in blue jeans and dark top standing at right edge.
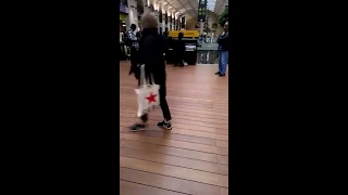
[[219, 43], [219, 70], [215, 75], [224, 77], [228, 63], [228, 23], [225, 24], [224, 31], [217, 37], [216, 42]]

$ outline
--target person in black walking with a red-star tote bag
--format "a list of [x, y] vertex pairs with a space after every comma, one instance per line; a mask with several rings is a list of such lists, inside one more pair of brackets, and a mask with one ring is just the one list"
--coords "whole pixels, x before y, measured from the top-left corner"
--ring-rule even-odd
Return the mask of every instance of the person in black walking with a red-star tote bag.
[[[164, 129], [172, 129], [171, 112], [166, 102], [166, 73], [163, 53], [165, 52], [165, 39], [159, 35], [159, 22], [153, 13], [146, 13], [141, 18], [141, 26], [144, 28], [141, 39], [139, 41], [138, 62], [139, 65], [145, 65], [146, 77], [152, 74], [154, 82], [160, 84], [160, 104], [163, 113], [163, 121], [158, 126]], [[130, 74], [135, 74], [140, 84], [140, 67], [139, 65], [130, 67]], [[138, 131], [146, 127], [148, 115], [140, 117], [140, 120], [130, 127], [130, 131]]]

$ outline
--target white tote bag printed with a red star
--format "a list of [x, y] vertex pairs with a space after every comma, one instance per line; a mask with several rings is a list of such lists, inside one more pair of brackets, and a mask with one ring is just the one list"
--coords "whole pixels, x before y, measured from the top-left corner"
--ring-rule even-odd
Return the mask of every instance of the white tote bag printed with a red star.
[[140, 66], [140, 87], [135, 89], [138, 95], [138, 117], [150, 113], [160, 106], [160, 86], [154, 83], [151, 75], [152, 84], [146, 79], [145, 65]]

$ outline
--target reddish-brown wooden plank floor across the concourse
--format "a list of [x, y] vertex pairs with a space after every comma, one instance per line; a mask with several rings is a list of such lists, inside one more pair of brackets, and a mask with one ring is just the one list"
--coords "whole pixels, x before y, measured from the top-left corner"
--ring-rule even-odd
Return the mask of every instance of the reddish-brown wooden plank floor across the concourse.
[[167, 66], [167, 102], [173, 129], [129, 132], [137, 102], [128, 62], [120, 63], [120, 194], [228, 194], [228, 76], [216, 65]]

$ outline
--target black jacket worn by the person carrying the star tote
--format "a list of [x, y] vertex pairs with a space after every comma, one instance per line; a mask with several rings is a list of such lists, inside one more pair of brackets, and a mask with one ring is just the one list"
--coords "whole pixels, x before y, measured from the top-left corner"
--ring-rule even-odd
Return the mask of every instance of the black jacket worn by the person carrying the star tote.
[[[152, 74], [156, 82], [165, 82], [165, 39], [158, 34], [158, 28], [146, 28], [142, 30], [139, 41], [138, 62], [145, 64], [147, 77]], [[135, 74], [139, 78], [139, 67], [133, 65], [129, 74]]]

